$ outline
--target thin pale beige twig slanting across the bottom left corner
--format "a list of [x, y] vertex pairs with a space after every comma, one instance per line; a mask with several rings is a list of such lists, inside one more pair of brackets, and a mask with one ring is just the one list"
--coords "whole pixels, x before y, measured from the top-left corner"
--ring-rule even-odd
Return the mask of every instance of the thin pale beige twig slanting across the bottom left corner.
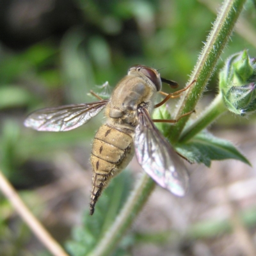
[[35, 236], [45, 245], [45, 247], [54, 256], [68, 256], [68, 254], [61, 248], [54, 238], [45, 230], [42, 224], [29, 211], [28, 207], [21, 200], [18, 193], [13, 188], [12, 184], [4, 177], [0, 170], [0, 189], [3, 194], [10, 200], [15, 210], [19, 213], [22, 220], [24, 220], [29, 228], [34, 232]]

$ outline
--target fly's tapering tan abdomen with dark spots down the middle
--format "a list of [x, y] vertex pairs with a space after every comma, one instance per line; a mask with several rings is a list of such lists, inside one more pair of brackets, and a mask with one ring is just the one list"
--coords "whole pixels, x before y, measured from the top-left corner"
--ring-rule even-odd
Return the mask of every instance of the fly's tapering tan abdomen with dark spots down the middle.
[[91, 163], [93, 168], [93, 187], [90, 214], [109, 180], [131, 161], [134, 154], [130, 129], [115, 129], [107, 124], [100, 127], [93, 141]]

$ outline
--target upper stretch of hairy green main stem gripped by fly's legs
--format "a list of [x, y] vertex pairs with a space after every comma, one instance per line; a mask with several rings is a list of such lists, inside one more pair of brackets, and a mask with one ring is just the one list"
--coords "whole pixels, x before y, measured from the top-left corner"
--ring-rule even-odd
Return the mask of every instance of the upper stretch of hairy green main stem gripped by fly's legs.
[[[196, 103], [202, 96], [216, 62], [218, 61], [218, 58], [220, 57], [220, 54], [234, 29], [239, 14], [243, 10], [244, 3], [245, 0], [224, 1], [221, 11], [214, 22], [211, 33], [207, 38], [204, 49], [202, 50], [189, 79], [189, 83], [194, 80], [196, 80], [196, 83], [189, 88], [186, 95], [184, 95], [183, 99], [180, 100], [179, 110], [175, 116], [176, 119], [180, 115], [184, 115], [184, 113], [188, 113], [195, 109]], [[180, 133], [188, 121], [188, 118], [189, 116], [185, 116], [184, 118], [181, 118], [176, 125], [170, 127], [168, 139], [172, 143], [177, 143], [179, 140]]]

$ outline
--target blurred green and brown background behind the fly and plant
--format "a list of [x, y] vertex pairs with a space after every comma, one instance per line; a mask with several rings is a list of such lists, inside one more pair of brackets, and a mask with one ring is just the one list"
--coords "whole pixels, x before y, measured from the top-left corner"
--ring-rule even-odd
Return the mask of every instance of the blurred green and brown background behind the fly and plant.
[[[33, 131], [24, 118], [39, 108], [93, 101], [90, 90], [100, 92], [106, 81], [113, 88], [138, 63], [161, 68], [162, 77], [184, 87], [218, 7], [210, 0], [0, 0], [1, 170], [71, 255], [95, 246], [115, 217], [106, 209], [118, 211], [143, 171], [133, 159], [88, 216], [90, 150], [102, 115], [63, 133]], [[248, 1], [194, 118], [218, 92], [223, 61], [244, 49], [256, 56], [255, 20]], [[188, 195], [175, 198], [157, 186], [115, 255], [253, 255], [255, 129], [255, 115], [228, 113], [214, 123], [210, 131], [237, 145], [252, 167], [235, 160], [187, 164]], [[0, 255], [50, 255], [1, 193], [0, 209]]]

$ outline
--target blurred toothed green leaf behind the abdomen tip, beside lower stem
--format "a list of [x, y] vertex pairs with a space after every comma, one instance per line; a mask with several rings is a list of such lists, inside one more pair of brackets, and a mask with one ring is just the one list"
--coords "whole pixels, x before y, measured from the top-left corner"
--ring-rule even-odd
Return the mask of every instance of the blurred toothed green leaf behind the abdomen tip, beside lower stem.
[[[83, 225], [74, 228], [72, 240], [66, 244], [72, 256], [88, 255], [96, 246], [102, 236], [116, 220], [122, 205], [131, 191], [131, 173], [124, 171], [111, 180], [108, 188], [100, 196], [93, 216], [89, 211], [84, 212]], [[130, 241], [130, 242], [129, 242]], [[124, 239], [115, 255], [122, 255], [124, 249], [131, 245], [129, 236]]]

